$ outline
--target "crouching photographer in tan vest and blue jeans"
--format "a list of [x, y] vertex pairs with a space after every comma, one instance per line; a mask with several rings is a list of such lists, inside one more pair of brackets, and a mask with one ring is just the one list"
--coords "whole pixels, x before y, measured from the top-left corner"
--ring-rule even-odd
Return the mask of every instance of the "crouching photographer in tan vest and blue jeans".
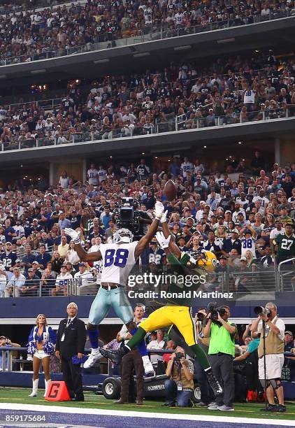
[[166, 402], [164, 406], [190, 407], [194, 390], [194, 364], [185, 359], [185, 350], [178, 346], [166, 369]]

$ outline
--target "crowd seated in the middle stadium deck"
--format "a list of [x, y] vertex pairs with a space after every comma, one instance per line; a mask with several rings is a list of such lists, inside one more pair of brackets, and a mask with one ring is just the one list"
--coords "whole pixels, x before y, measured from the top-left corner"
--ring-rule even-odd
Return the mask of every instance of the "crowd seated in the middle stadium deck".
[[104, 76], [83, 94], [71, 85], [61, 104], [0, 106], [4, 150], [92, 139], [273, 120], [294, 114], [294, 58], [272, 50], [212, 64], [173, 64], [162, 71]]

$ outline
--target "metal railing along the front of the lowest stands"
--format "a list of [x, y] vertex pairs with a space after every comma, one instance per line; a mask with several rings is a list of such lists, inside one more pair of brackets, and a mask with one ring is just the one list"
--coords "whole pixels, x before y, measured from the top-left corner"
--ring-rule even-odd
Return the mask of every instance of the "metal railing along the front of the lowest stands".
[[[295, 260], [292, 259], [292, 260]], [[24, 290], [22, 285], [31, 287], [34, 290]], [[24, 283], [23, 280], [17, 281], [1, 280], [0, 291], [5, 292], [11, 287], [10, 297], [55, 297], [52, 290], [59, 287], [56, 296], [93, 296], [99, 290], [99, 283], [94, 276], [93, 278], [73, 278], [59, 282], [54, 278], [48, 280], [29, 280]], [[129, 290], [129, 289], [128, 289]], [[134, 290], [130, 288], [130, 290]], [[141, 285], [138, 284], [138, 290]], [[240, 271], [240, 269], [228, 270], [224, 273], [209, 273], [206, 283], [199, 287], [199, 292], [232, 292], [233, 297], [247, 295], [247, 300], [257, 300], [257, 295], [270, 294], [275, 292], [295, 291], [295, 269], [294, 264], [276, 266], [262, 266], [253, 264], [250, 269]], [[8, 297], [8, 293], [6, 292]]]

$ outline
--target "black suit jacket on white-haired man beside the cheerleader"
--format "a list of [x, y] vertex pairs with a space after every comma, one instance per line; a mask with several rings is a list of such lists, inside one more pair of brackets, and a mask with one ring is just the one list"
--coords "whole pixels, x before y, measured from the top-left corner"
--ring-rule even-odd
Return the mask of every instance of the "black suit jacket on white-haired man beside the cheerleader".
[[[66, 327], [67, 322], [68, 318], [65, 318], [59, 323], [55, 350], [59, 350], [62, 358], [71, 359], [78, 352], [84, 353], [86, 329], [84, 322], [79, 320], [79, 318], [74, 318], [69, 327]], [[61, 341], [63, 334], [64, 341]]]

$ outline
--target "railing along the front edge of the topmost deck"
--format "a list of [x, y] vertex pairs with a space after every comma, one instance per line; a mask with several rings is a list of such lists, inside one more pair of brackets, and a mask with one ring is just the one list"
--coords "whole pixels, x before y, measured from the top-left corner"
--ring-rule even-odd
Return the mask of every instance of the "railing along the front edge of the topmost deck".
[[292, 17], [295, 15], [295, 8], [292, 10], [280, 11], [278, 13], [270, 12], [268, 15], [254, 15], [253, 22], [245, 22], [243, 18], [234, 20], [225, 20], [219, 22], [209, 22], [207, 24], [195, 25], [192, 27], [179, 27], [176, 29], [167, 29], [166, 26], [150, 26], [145, 27], [140, 31], [137, 36], [131, 36], [126, 38], [117, 38], [114, 41], [105, 41], [104, 36], [101, 40], [101, 36], [93, 38], [92, 42], [85, 43], [83, 45], [76, 45], [72, 48], [61, 48], [59, 50], [50, 50], [41, 52], [34, 55], [20, 55], [17, 57], [2, 57], [0, 59], [0, 66], [7, 66], [11, 64], [19, 64], [22, 62], [33, 62], [40, 59], [51, 59], [57, 57], [66, 57], [69, 55], [77, 55], [85, 52], [92, 52], [94, 50], [103, 50], [108, 48], [119, 48], [122, 46], [134, 45], [138, 43], [145, 43], [149, 41], [157, 41], [165, 38], [174, 38], [179, 36], [185, 36], [189, 34], [201, 34], [205, 31], [216, 31], [220, 29], [240, 27], [244, 25], [257, 24], [259, 22], [266, 22], [271, 20], [278, 20], [280, 18]]

